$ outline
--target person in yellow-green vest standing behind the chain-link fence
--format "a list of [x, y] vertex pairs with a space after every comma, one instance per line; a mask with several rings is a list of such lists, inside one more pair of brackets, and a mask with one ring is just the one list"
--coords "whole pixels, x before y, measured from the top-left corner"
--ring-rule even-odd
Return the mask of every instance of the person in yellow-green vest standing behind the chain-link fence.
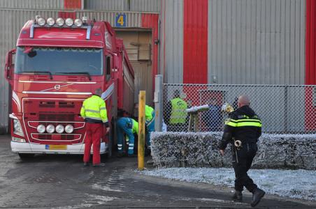
[[180, 98], [180, 91], [175, 90], [173, 99], [167, 103], [164, 121], [171, 132], [185, 131], [187, 123], [187, 102]]

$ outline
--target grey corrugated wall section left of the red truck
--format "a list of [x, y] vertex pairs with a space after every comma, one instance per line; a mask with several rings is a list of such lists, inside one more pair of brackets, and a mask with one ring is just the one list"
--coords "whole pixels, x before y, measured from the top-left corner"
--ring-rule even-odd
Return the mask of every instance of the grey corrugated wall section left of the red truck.
[[4, 64], [6, 59], [6, 53], [15, 48], [17, 37], [20, 33], [20, 29], [27, 22], [27, 20], [34, 19], [36, 15], [43, 17], [57, 17], [55, 11], [32, 11], [32, 10], [1, 10], [0, 9], [0, 61], [1, 61], [1, 73], [0, 73], [0, 129], [1, 127], [8, 126], [8, 101], [9, 98], [9, 86], [4, 77]]

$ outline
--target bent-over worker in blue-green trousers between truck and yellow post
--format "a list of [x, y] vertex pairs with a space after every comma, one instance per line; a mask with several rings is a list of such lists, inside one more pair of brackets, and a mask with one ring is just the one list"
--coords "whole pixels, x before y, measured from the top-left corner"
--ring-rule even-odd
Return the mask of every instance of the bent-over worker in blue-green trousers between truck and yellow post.
[[138, 123], [133, 118], [122, 117], [117, 119], [117, 151], [118, 156], [122, 157], [124, 154], [123, 144], [124, 144], [124, 134], [126, 134], [129, 139], [128, 145], [129, 149], [127, 154], [129, 157], [134, 157], [134, 134], [138, 134]]

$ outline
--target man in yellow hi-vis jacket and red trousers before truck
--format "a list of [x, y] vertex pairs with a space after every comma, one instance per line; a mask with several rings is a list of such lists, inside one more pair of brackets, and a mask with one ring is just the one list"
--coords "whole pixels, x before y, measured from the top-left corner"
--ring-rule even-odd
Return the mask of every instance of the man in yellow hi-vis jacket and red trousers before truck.
[[108, 132], [108, 115], [106, 112], [106, 102], [101, 98], [102, 90], [97, 88], [94, 95], [87, 98], [82, 103], [80, 115], [85, 119], [87, 132], [85, 135], [85, 154], [83, 155], [83, 165], [89, 165], [90, 150], [93, 144], [93, 166], [103, 167], [100, 159], [100, 144], [103, 125], [106, 125]]

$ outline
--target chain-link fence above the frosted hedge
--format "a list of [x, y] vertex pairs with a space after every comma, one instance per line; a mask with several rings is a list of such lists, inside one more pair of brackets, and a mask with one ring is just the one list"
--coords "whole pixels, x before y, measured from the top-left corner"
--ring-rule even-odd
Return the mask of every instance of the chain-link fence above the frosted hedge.
[[[198, 114], [198, 131], [222, 132], [228, 116], [221, 111], [222, 105], [227, 102], [236, 109], [242, 94], [250, 97], [250, 107], [260, 116], [264, 133], [316, 132], [316, 86], [164, 84], [163, 92], [162, 112], [168, 132], [185, 132], [189, 125], [186, 113], [172, 115], [173, 98], [180, 98], [173, 102], [183, 102], [187, 108], [208, 104], [210, 109]], [[176, 117], [185, 120], [172, 120]]]

